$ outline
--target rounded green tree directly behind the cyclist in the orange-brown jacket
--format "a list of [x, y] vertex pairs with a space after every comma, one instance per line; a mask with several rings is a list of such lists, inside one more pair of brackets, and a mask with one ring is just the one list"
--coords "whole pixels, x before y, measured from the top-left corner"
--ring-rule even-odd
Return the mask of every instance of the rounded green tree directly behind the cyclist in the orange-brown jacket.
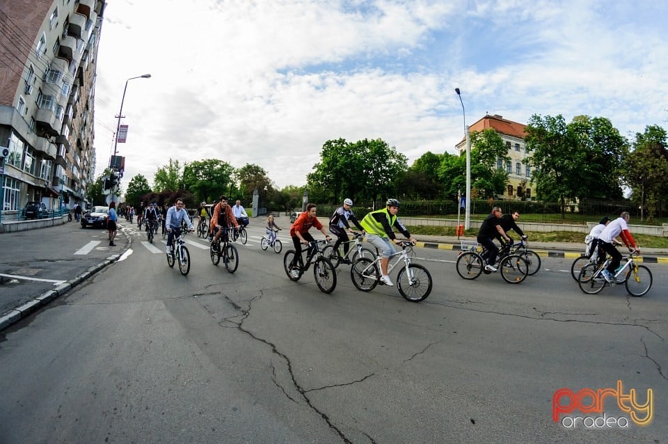
[[202, 202], [218, 200], [234, 184], [234, 167], [218, 159], [204, 159], [186, 164], [183, 168], [184, 188]]

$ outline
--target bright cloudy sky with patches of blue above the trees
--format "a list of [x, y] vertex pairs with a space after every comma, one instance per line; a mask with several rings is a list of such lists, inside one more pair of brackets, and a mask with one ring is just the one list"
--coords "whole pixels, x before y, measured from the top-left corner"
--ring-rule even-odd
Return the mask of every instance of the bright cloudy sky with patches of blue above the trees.
[[665, 17], [663, 0], [107, 0], [96, 175], [126, 81], [126, 187], [169, 159], [302, 186], [337, 138], [381, 138], [411, 165], [486, 113], [605, 117], [633, 139], [668, 129]]

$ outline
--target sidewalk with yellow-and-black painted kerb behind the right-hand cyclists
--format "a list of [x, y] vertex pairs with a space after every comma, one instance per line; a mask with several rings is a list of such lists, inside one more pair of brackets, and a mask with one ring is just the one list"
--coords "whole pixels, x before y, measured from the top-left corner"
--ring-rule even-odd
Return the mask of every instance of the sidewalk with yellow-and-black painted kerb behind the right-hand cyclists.
[[[456, 236], [428, 236], [415, 235], [417, 246], [424, 248], [438, 248], [439, 250], [459, 251], [462, 240], [475, 241], [473, 237]], [[535, 251], [540, 256], [546, 257], [579, 257], [584, 253], [584, 243], [575, 244], [573, 242], [533, 242], [529, 240], [527, 244], [530, 250]], [[620, 253], [624, 254], [624, 248], [620, 248]], [[647, 262], [655, 264], [668, 264], [668, 248], [641, 248], [642, 255], [638, 262]]]

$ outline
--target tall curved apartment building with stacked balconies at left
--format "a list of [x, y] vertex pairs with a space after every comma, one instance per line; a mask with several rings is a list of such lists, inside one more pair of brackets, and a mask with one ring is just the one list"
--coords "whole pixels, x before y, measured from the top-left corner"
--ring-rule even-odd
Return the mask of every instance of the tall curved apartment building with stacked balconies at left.
[[[104, 0], [0, 0], [3, 220], [26, 202], [85, 204]], [[8, 216], [6, 218], [6, 216]]]

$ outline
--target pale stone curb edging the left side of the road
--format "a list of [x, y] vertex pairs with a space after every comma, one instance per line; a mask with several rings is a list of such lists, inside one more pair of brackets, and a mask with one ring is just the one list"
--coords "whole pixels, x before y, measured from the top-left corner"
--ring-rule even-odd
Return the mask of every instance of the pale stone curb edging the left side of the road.
[[18, 306], [13, 310], [10, 310], [5, 315], [0, 317], [0, 331], [3, 331], [5, 328], [14, 324], [15, 322], [19, 322], [21, 319], [28, 317], [33, 312], [47, 305], [47, 303], [50, 303], [51, 301], [54, 301], [58, 297], [63, 296], [63, 294], [69, 292], [70, 290], [72, 290], [72, 288], [77, 287], [77, 285], [83, 283], [84, 280], [90, 278], [90, 276], [93, 276], [98, 271], [106, 268], [107, 266], [115, 262], [118, 262], [120, 257], [124, 255], [125, 252], [130, 249], [130, 247], [132, 247], [132, 237], [128, 236], [125, 230], [123, 231], [123, 234], [127, 238], [127, 242], [125, 244], [125, 248], [123, 248], [123, 250], [120, 253], [107, 257], [104, 261], [100, 262], [99, 264], [93, 265], [93, 267], [86, 269], [86, 271], [79, 274], [79, 276], [77, 276], [76, 278], [66, 280], [61, 285], [58, 285], [58, 287], [52, 290], [47, 290], [46, 292], [40, 294], [39, 296], [36, 296], [35, 298], [30, 299], [29, 301], [26, 301], [21, 306]]

